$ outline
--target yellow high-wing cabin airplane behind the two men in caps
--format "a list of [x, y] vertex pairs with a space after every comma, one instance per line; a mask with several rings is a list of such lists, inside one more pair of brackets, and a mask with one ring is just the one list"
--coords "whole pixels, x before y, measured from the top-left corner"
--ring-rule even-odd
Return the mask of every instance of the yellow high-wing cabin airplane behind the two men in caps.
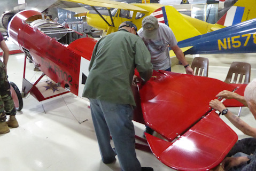
[[[95, 11], [77, 14], [76, 17], [86, 15], [88, 25], [100, 30], [106, 34], [116, 32], [123, 21], [132, 21], [141, 28], [142, 19], [150, 15], [155, 10], [164, 6], [161, 4], [126, 4], [108, 0], [63, 0], [74, 3], [90, 5]], [[107, 7], [108, 14], [101, 14], [95, 6]], [[114, 10], [111, 10], [114, 9]]]

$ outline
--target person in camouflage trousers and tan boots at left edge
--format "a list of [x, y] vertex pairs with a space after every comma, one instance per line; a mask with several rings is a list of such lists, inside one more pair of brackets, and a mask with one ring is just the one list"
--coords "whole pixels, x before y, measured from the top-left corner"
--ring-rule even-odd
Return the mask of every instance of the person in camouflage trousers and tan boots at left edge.
[[[10, 92], [10, 83], [7, 80], [7, 61], [9, 59], [9, 49], [0, 33], [0, 48], [3, 50], [3, 62], [0, 60], [0, 134], [9, 133], [10, 129], [19, 127], [15, 118], [16, 110]], [[10, 115], [6, 122], [6, 115]]]

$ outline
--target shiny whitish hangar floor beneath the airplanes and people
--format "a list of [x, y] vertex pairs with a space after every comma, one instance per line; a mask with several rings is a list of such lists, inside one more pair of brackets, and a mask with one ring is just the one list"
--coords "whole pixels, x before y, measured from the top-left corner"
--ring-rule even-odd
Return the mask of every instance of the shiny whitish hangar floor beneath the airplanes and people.
[[[7, 42], [9, 48], [15, 49]], [[252, 65], [251, 79], [256, 77], [256, 54], [200, 55], [209, 59], [208, 77], [224, 80], [232, 61], [245, 61]], [[192, 61], [195, 56], [187, 56]], [[177, 61], [172, 59], [175, 64]], [[22, 85], [24, 55], [11, 55], [7, 65], [9, 81]], [[173, 72], [184, 73], [184, 67], [173, 65]], [[33, 64], [27, 64], [26, 76], [31, 82], [41, 75], [33, 71]], [[98, 144], [92, 125], [88, 100], [72, 94], [38, 102], [34, 97], [23, 99], [24, 108], [17, 113], [18, 128], [0, 135], [0, 170], [120, 170], [118, 160], [105, 165], [101, 161]], [[238, 107], [230, 108], [238, 113]], [[256, 126], [250, 111], [243, 107], [241, 119]], [[247, 137], [234, 128], [224, 117], [221, 118], [238, 134], [239, 139]], [[135, 131], [142, 136], [144, 126], [134, 122]], [[156, 171], [174, 170], [162, 164], [153, 154], [136, 150], [142, 166]]]

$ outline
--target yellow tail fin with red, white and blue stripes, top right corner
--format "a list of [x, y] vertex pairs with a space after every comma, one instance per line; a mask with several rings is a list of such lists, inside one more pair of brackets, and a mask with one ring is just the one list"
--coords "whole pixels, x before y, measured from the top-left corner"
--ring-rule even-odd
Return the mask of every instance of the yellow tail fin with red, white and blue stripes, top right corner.
[[219, 25], [232, 26], [239, 22], [256, 18], [256, 1], [255, 0], [239, 0], [226, 14], [217, 22]]

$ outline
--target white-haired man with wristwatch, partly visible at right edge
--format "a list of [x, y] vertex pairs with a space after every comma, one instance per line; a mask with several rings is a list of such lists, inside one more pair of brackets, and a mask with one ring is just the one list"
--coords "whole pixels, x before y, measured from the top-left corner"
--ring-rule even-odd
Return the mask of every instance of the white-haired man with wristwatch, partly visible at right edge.
[[[220, 92], [217, 97], [235, 98], [240, 102], [243, 102], [249, 107], [254, 118], [256, 119], [256, 79], [253, 79], [245, 88], [244, 98], [237, 94], [232, 94], [226, 90]], [[227, 119], [244, 134], [256, 138], [256, 128], [249, 126], [236, 115], [232, 114], [218, 99], [212, 100], [210, 102], [210, 106], [226, 116]], [[222, 161], [222, 167], [225, 170], [256, 170], [256, 151], [254, 151], [253, 155], [236, 153], [233, 157], [227, 157]]]

